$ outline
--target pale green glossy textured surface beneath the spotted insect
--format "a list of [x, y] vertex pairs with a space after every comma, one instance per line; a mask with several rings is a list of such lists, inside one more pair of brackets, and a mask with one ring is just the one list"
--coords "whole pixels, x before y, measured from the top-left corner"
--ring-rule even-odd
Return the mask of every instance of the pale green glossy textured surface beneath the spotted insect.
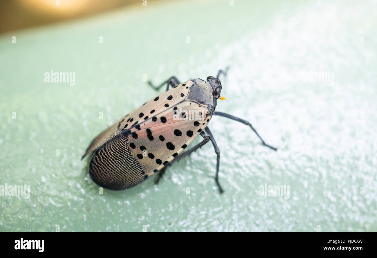
[[[0, 231], [376, 231], [376, 5], [305, 2], [148, 1], [2, 35], [0, 184], [29, 184], [31, 196], [0, 196]], [[157, 95], [143, 75], [185, 81], [226, 66], [216, 110], [279, 150], [213, 117], [222, 195], [209, 144], [158, 186], [99, 194], [81, 155]], [[44, 83], [51, 69], [76, 72], [76, 84]], [[289, 186], [289, 198], [261, 195], [266, 183]]]

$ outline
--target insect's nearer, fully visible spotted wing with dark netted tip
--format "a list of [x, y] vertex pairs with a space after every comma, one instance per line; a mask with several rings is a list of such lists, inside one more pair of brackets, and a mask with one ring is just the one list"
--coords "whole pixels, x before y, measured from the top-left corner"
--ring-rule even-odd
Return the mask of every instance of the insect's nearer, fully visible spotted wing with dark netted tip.
[[90, 177], [111, 190], [141, 183], [200, 134], [210, 119], [207, 110], [198, 103], [183, 101], [121, 131], [95, 151], [89, 164]]

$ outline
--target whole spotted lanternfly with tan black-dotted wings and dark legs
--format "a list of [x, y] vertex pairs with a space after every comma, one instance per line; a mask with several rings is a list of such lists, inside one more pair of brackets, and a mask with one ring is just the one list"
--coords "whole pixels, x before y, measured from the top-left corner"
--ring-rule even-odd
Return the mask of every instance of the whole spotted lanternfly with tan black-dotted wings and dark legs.
[[[166, 91], [122, 117], [101, 132], [89, 145], [81, 160], [94, 151], [89, 163], [89, 175], [101, 187], [124, 190], [136, 186], [158, 172], [156, 183], [167, 166], [187, 157], [211, 141], [217, 154], [215, 181], [219, 184], [220, 151], [208, 123], [215, 115], [239, 121], [251, 127], [262, 144], [266, 144], [246, 120], [215, 111], [221, 97], [221, 81], [226, 75], [220, 70], [207, 80], [190, 79], [184, 83], [173, 76], [152, 88], [158, 90], [167, 84]], [[170, 89], [169, 89], [170, 88]], [[185, 149], [198, 136], [203, 140], [191, 149]]]

